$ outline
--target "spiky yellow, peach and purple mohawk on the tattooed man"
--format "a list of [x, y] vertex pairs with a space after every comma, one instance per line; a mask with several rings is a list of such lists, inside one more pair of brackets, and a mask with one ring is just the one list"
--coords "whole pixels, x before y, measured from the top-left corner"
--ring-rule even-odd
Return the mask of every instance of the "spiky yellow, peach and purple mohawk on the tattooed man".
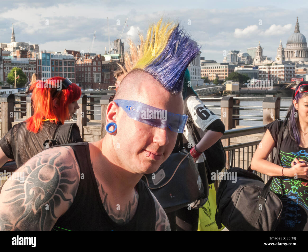
[[139, 50], [129, 41], [131, 55], [124, 56], [124, 76], [134, 69], [142, 69], [151, 74], [167, 91], [179, 94], [183, 88], [183, 79], [189, 63], [198, 55], [200, 47], [180, 28], [179, 23], [150, 25], [147, 36], [140, 37]]

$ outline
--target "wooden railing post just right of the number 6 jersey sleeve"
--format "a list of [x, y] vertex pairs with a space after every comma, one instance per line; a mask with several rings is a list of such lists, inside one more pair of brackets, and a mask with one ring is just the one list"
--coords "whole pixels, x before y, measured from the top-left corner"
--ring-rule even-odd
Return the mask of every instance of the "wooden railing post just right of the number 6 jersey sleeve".
[[[220, 101], [221, 121], [225, 124], [225, 130], [232, 129], [232, 113], [233, 113], [233, 96], [224, 96]], [[221, 140], [223, 146], [230, 144], [230, 138]], [[229, 151], [226, 152], [226, 169], [229, 169]], [[218, 187], [218, 181], [215, 181], [215, 188]]]

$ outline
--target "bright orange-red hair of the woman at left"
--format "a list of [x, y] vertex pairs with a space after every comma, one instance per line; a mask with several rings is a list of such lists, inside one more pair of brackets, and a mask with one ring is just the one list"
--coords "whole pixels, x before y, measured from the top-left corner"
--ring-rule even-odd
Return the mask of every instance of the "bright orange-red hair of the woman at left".
[[[75, 83], [71, 83], [67, 89], [57, 90], [57, 87], [37, 87], [37, 83], [43, 86], [43, 83], [49, 81], [64, 82], [63, 77], [52, 77], [42, 83], [33, 83], [30, 87], [32, 93], [33, 116], [29, 117], [27, 130], [34, 133], [39, 132], [43, 126], [44, 119], [54, 119], [51, 122], [64, 124], [64, 120], [69, 116], [68, 105], [78, 100], [81, 96], [81, 89]], [[56, 85], [56, 84], [55, 84]], [[59, 108], [54, 107], [54, 100], [58, 99]]]

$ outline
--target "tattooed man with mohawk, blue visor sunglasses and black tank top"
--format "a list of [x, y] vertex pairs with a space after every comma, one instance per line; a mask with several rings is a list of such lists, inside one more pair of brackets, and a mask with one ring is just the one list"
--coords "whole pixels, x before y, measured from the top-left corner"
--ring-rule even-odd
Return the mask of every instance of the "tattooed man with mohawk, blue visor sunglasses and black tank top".
[[183, 77], [199, 47], [179, 24], [162, 20], [140, 39], [142, 56], [107, 106], [108, 134], [49, 148], [19, 168], [25, 178], [2, 187], [0, 230], [170, 230], [140, 179], [168, 158], [184, 130]]

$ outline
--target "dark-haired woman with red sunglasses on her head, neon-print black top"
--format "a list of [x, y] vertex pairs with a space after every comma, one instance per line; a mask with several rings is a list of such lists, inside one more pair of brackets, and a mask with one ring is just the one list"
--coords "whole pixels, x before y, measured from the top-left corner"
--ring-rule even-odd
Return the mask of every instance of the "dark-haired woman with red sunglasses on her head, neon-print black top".
[[[261, 147], [251, 160], [251, 169], [274, 177], [270, 189], [283, 204], [276, 230], [296, 231], [308, 230], [308, 82], [299, 83], [292, 97], [286, 120], [275, 120], [265, 126]], [[287, 134], [285, 138], [282, 136], [279, 165], [276, 165], [266, 159], [277, 146], [282, 125], [286, 125]]]

